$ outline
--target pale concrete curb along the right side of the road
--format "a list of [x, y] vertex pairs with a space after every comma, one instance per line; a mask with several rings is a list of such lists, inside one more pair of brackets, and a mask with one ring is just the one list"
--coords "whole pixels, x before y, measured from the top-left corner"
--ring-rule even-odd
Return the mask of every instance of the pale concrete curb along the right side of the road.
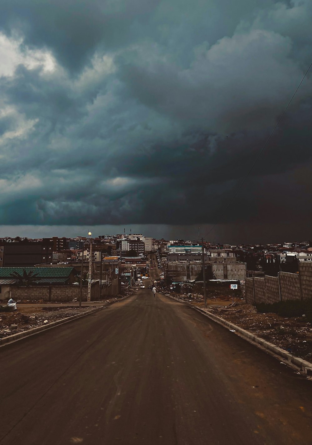
[[289, 352], [285, 351], [285, 349], [279, 348], [278, 346], [275, 346], [275, 344], [272, 344], [260, 337], [255, 336], [249, 331], [246, 331], [243, 328], [240, 328], [239, 326], [236, 326], [236, 324], [233, 324], [227, 320], [224, 320], [223, 318], [217, 317], [216, 315], [212, 314], [211, 312], [205, 311], [204, 309], [201, 309], [200, 307], [193, 306], [192, 304], [181, 300], [176, 297], [172, 297], [169, 294], [164, 294], [166, 297], [169, 297], [171, 299], [174, 299], [176, 301], [180, 301], [180, 303], [184, 303], [188, 305], [189, 307], [192, 307], [193, 309], [196, 309], [196, 311], [201, 312], [206, 317], [210, 318], [211, 320], [215, 321], [216, 323], [221, 324], [222, 326], [226, 328], [231, 328], [235, 331], [235, 334], [240, 334], [241, 337], [244, 338], [244, 340], [249, 341], [252, 344], [255, 344], [256, 346], [262, 346], [267, 350], [269, 353], [274, 353], [275, 355], [282, 357], [283, 359], [287, 360], [288, 363], [294, 364], [296, 367], [300, 368], [301, 371], [303, 371], [306, 375], [312, 376], [312, 363], [301, 359], [300, 357], [293, 356]]

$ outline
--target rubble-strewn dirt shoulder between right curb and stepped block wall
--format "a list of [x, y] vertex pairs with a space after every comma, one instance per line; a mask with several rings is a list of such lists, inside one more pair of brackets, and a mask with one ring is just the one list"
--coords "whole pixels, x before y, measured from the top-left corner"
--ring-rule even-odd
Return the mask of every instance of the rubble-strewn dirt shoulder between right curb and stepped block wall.
[[[204, 300], [201, 298], [187, 298], [174, 292], [170, 292], [170, 295], [204, 309]], [[282, 317], [274, 313], [258, 313], [254, 306], [246, 304], [242, 299], [234, 299], [232, 305], [228, 297], [207, 299], [207, 310], [285, 349], [293, 356], [312, 362], [312, 325], [304, 316]]]

